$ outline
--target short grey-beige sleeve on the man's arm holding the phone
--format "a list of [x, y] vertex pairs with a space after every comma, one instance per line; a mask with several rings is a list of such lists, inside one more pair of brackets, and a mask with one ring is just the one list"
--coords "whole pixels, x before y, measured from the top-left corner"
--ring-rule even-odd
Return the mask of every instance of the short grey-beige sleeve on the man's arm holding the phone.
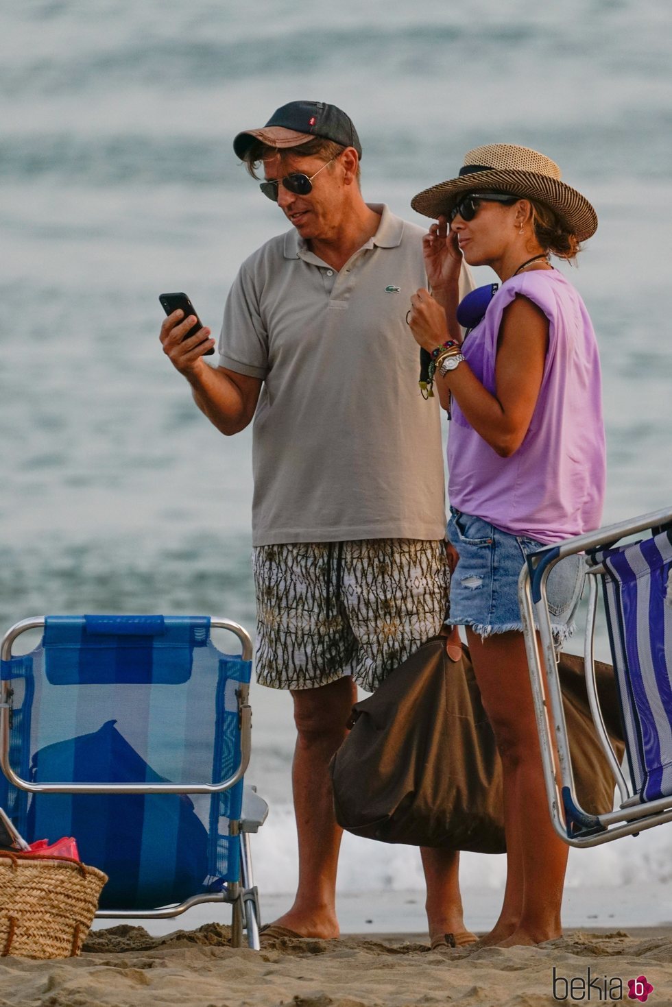
[[250, 378], [268, 374], [268, 333], [254, 279], [246, 266], [241, 267], [227, 297], [219, 351], [221, 368]]

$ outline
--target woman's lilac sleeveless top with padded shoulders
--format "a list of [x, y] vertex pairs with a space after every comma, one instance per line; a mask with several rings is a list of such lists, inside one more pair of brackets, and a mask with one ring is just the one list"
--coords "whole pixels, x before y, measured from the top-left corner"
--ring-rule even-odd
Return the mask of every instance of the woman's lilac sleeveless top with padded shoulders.
[[577, 292], [557, 270], [522, 273], [495, 294], [462, 352], [495, 393], [502, 314], [516, 294], [549, 321], [549, 344], [537, 405], [523, 443], [502, 458], [452, 402], [448, 497], [465, 514], [512, 535], [552, 543], [599, 527], [604, 496], [604, 427], [599, 357]]

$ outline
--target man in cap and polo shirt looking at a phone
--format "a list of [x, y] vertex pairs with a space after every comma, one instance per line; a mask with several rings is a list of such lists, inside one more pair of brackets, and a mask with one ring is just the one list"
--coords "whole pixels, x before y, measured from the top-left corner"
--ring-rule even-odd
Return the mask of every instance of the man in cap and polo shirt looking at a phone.
[[[426, 285], [422, 231], [364, 201], [362, 147], [332, 105], [291, 102], [234, 150], [291, 225], [246, 262], [229, 294], [220, 365], [209, 328], [173, 312], [164, 352], [222, 433], [254, 417], [254, 573], [260, 683], [289, 689], [299, 882], [270, 932], [339, 936], [341, 830], [329, 760], [359, 683], [385, 675], [442, 625], [447, 602], [436, 400], [418, 389], [406, 325]], [[183, 340], [183, 341], [182, 341]], [[464, 930], [456, 855], [422, 852], [430, 937]]]

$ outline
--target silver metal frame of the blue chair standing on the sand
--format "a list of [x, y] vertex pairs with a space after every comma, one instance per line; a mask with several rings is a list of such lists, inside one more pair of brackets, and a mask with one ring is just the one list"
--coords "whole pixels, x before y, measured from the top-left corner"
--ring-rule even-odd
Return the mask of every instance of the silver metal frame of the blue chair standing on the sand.
[[[0, 659], [10, 661], [12, 658], [12, 646], [21, 633], [29, 629], [43, 629], [45, 616], [35, 616], [22, 619], [16, 622], [7, 630], [0, 644]], [[214, 618], [210, 619], [211, 628], [228, 629], [238, 637], [242, 646], [243, 661], [252, 660], [252, 640], [249, 633], [243, 626], [230, 619]], [[234, 772], [220, 783], [207, 782], [147, 782], [147, 783], [75, 783], [75, 782], [49, 782], [38, 783], [28, 779], [23, 779], [10, 764], [10, 704], [8, 702], [7, 691], [8, 682], [2, 682], [2, 692], [0, 694], [0, 768], [4, 772], [9, 782], [19, 789], [27, 790], [29, 794], [221, 794], [232, 786], [235, 786], [245, 774], [250, 761], [252, 747], [252, 708], [249, 700], [249, 685], [241, 682], [237, 689], [238, 718], [241, 739], [241, 756], [239, 764]], [[239, 820], [231, 820], [229, 824], [229, 834], [231, 836], [240, 835], [240, 881], [225, 882], [222, 891], [193, 895], [183, 902], [175, 905], [159, 906], [155, 909], [106, 909], [96, 913], [97, 918], [106, 919], [166, 919], [178, 916], [194, 905], [204, 902], [225, 902], [232, 904], [232, 945], [240, 947], [243, 943], [243, 930], [247, 931], [248, 945], [254, 951], [259, 951], [259, 893], [254, 884], [252, 872], [252, 856], [250, 848], [250, 833], [258, 832], [263, 825], [268, 814], [266, 802], [259, 798], [253, 787], [245, 786], [243, 792], [243, 814]]]

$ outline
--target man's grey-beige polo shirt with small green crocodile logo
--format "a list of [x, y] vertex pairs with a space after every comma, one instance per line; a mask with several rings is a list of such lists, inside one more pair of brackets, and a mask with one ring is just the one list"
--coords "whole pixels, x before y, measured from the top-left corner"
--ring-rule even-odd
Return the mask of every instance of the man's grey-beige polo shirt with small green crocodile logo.
[[420, 395], [406, 324], [427, 286], [424, 232], [371, 208], [380, 227], [340, 272], [292, 230], [243, 263], [227, 299], [220, 366], [264, 382], [255, 546], [444, 536], [438, 400]]

